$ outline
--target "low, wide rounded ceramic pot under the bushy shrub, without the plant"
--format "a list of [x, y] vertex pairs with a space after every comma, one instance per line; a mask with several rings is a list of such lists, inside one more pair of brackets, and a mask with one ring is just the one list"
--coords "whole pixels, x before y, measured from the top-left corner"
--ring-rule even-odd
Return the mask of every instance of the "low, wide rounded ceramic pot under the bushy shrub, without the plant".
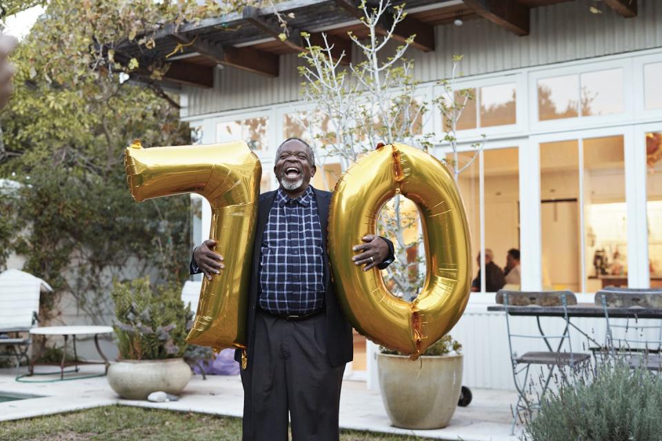
[[191, 368], [182, 358], [123, 360], [108, 368], [108, 384], [127, 400], [146, 400], [152, 392], [178, 395], [191, 379]]

